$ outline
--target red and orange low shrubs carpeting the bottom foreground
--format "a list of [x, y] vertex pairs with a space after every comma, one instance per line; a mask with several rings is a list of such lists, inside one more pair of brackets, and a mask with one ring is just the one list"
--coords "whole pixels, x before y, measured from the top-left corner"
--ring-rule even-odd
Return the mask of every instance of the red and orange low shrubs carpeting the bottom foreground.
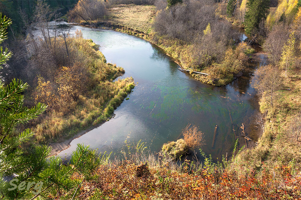
[[[150, 157], [147, 160], [152, 160]], [[154, 161], [153, 161], [154, 162]], [[86, 181], [82, 199], [301, 199], [301, 172], [292, 166], [275, 168], [268, 174], [250, 171], [237, 175], [230, 168], [213, 169], [191, 162], [181, 167], [157, 161], [144, 163], [148, 170], [137, 176], [141, 166], [129, 160], [101, 165], [98, 178]], [[147, 172], [147, 173], [146, 173]], [[275, 176], [274, 176], [275, 175]]]

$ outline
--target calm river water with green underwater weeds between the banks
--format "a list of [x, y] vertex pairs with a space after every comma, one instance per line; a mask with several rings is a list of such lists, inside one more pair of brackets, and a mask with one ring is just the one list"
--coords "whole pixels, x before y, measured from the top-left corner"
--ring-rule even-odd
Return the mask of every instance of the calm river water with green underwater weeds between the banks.
[[255, 91], [250, 87], [253, 70], [229, 85], [213, 87], [179, 71], [178, 64], [161, 49], [141, 38], [82, 26], [73, 26], [72, 32], [76, 29], [82, 31], [84, 38], [100, 45], [107, 62], [125, 69], [126, 73], [119, 78], [132, 76], [136, 86], [128, 95], [129, 100], [114, 111], [112, 119], [74, 139], [60, 156], [70, 158], [78, 143], [118, 155], [125, 140], [141, 140], [152, 152], [159, 152], [164, 143], [181, 138], [188, 123], [204, 133], [206, 145], [202, 149], [207, 155], [230, 155], [236, 138], [229, 113], [234, 129], [238, 129], [241, 123], [252, 121], [257, 109]]

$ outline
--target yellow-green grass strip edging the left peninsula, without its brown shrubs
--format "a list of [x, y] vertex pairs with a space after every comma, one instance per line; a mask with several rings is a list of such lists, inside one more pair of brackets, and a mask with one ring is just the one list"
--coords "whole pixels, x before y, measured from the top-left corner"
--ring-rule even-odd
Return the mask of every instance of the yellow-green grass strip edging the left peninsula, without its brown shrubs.
[[92, 40], [76, 38], [73, 42], [76, 46], [74, 49], [82, 52], [85, 57], [82, 64], [89, 73], [91, 84], [76, 100], [68, 99], [68, 107], [61, 106], [61, 103], [58, 103], [61, 101], [55, 101], [55, 104], [60, 105], [48, 109], [47, 113], [32, 122], [38, 143], [61, 142], [81, 130], [108, 120], [114, 109], [134, 88], [132, 78], [113, 82], [124, 70], [116, 64], [107, 63], [104, 55], [96, 50], [96, 44]]

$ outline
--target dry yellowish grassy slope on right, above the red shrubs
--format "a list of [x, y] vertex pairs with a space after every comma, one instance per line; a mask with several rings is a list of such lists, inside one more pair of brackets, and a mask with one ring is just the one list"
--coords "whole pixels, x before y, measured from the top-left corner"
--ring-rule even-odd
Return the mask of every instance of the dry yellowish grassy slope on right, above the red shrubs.
[[[262, 98], [259, 102], [260, 111], [268, 111], [265, 129], [259, 139], [259, 145], [254, 149], [242, 151], [234, 161], [234, 168], [240, 173], [258, 170], [263, 165], [273, 173], [274, 168], [290, 165], [297, 169], [301, 162], [301, 142], [298, 142], [296, 126], [300, 123], [301, 112], [301, 76], [300, 72], [284, 77], [281, 71], [283, 85], [277, 91], [277, 100], [272, 107]], [[290, 90], [288, 90], [290, 89]]]

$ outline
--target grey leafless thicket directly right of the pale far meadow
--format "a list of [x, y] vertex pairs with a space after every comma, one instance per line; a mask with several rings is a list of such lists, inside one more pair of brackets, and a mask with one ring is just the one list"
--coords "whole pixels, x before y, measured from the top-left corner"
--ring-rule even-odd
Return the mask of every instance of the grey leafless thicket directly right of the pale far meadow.
[[208, 23], [217, 21], [213, 1], [185, 1], [166, 8], [165, 1], [158, 1], [154, 30], [186, 42], [191, 42], [203, 32]]

